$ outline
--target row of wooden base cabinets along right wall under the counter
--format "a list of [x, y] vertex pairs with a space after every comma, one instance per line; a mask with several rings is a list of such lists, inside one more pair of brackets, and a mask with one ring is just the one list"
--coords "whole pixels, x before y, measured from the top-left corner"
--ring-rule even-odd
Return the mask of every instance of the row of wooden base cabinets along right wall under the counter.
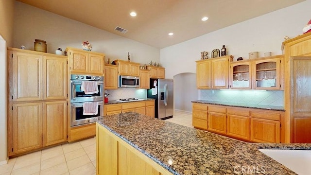
[[[297, 122], [308, 125], [311, 120]], [[192, 104], [195, 128], [243, 141], [284, 143], [284, 123], [283, 111]]]

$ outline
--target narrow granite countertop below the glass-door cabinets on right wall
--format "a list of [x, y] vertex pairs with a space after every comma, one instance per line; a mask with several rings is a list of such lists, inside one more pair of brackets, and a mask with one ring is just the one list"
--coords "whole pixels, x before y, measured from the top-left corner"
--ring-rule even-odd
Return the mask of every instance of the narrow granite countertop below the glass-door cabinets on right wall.
[[192, 103], [202, 103], [202, 104], [209, 104], [209, 105], [225, 105], [225, 106], [233, 106], [233, 107], [245, 107], [245, 108], [253, 108], [253, 109], [285, 111], [283, 106], [273, 106], [273, 105], [253, 105], [253, 104], [243, 104], [243, 103], [215, 102], [215, 101], [208, 101], [208, 100], [196, 100], [196, 101], [192, 101]]

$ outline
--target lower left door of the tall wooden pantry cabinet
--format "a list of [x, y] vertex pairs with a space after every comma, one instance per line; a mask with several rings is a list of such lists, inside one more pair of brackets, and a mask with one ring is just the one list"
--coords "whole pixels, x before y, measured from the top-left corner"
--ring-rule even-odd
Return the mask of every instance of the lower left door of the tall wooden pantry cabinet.
[[14, 154], [27, 152], [43, 146], [42, 103], [13, 105]]

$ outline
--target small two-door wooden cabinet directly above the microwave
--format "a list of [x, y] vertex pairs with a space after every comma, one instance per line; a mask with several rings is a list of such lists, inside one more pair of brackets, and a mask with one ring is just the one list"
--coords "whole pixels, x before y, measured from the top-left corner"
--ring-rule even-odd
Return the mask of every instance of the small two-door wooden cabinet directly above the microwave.
[[115, 60], [114, 62], [119, 66], [119, 75], [139, 76], [139, 63], [124, 60]]

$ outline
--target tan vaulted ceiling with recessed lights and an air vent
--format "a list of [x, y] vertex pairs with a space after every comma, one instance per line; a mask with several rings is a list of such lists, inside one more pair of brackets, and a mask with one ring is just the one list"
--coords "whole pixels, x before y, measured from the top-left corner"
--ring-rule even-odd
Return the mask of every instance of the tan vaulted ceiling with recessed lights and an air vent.
[[18, 1], [162, 49], [304, 0]]

